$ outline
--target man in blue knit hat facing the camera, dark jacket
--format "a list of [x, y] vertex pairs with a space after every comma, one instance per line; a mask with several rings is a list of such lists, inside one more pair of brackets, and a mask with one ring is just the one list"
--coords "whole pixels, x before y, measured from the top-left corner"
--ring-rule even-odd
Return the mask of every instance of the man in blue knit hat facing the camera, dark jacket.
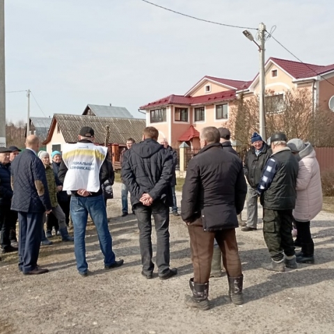
[[244, 173], [248, 181], [247, 193], [247, 223], [241, 231], [257, 230], [257, 185], [260, 182], [262, 169], [271, 155], [271, 149], [257, 132], [250, 138], [252, 146], [246, 153], [244, 160]]

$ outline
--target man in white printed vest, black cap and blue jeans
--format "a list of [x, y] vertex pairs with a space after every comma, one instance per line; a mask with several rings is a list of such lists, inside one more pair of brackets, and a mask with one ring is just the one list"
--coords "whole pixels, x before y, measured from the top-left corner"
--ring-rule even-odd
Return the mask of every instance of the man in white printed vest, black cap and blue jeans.
[[104, 269], [120, 267], [123, 260], [116, 261], [112, 250], [112, 239], [106, 218], [106, 205], [101, 185], [109, 177], [107, 149], [93, 143], [94, 130], [82, 127], [79, 141], [67, 144], [63, 150], [63, 161], [58, 177], [63, 190], [72, 191], [70, 212], [74, 228], [74, 253], [81, 276], [88, 275], [86, 262], [86, 225], [88, 213], [93, 219], [100, 248], [104, 255]]

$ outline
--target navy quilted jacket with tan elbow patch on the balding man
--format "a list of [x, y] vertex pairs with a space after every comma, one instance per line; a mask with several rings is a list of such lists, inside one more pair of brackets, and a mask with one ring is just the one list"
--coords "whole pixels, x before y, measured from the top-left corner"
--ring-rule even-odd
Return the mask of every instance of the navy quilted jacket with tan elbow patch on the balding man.
[[12, 162], [12, 210], [19, 212], [45, 212], [51, 210], [47, 177], [42, 161], [29, 149]]

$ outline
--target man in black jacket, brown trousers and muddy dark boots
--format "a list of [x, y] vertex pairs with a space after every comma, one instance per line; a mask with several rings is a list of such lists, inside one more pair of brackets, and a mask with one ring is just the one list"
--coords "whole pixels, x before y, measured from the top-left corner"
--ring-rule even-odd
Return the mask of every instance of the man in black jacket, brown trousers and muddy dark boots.
[[209, 309], [209, 276], [214, 239], [223, 253], [228, 273], [232, 303], [244, 303], [243, 275], [235, 228], [237, 214], [244, 208], [247, 186], [241, 160], [224, 150], [216, 127], [205, 127], [200, 133], [202, 150], [189, 161], [182, 190], [181, 216], [188, 225], [193, 278], [189, 285], [193, 296], [186, 305]]

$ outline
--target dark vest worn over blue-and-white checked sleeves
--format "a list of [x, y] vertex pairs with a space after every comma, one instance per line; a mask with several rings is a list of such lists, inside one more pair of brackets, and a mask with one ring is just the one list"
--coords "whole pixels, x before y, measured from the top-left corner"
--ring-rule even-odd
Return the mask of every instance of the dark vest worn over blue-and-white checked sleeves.
[[296, 180], [299, 164], [289, 149], [271, 155], [277, 168], [273, 181], [267, 191], [264, 191], [265, 209], [287, 210], [296, 205]]

